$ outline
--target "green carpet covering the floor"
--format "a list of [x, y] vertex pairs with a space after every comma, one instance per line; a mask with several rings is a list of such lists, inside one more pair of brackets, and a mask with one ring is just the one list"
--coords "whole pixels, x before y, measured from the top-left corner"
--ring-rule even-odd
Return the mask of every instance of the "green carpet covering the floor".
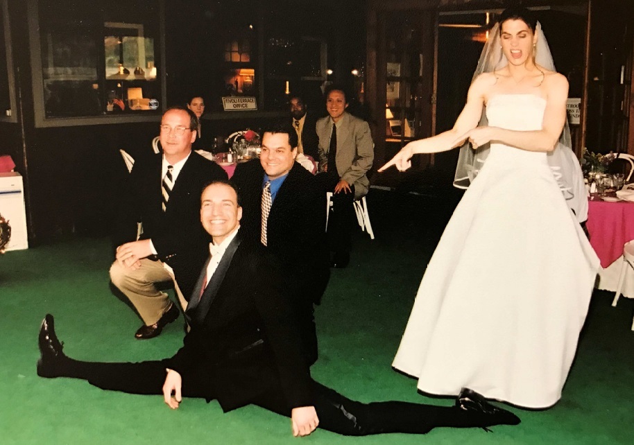
[[[334, 270], [316, 320], [320, 359], [313, 375], [361, 401], [402, 399], [449, 405], [417, 394], [415, 381], [391, 369], [420, 277], [456, 200], [372, 190], [376, 239], [355, 236], [349, 268]], [[290, 421], [257, 407], [223, 415], [216, 402], [105, 392], [85, 381], [35, 374], [37, 331], [46, 313], [65, 352], [82, 360], [139, 361], [170, 356], [182, 318], [160, 337], [132, 337], [137, 316], [110, 293], [110, 243], [81, 238], [0, 256], [1, 444], [630, 444], [634, 392], [634, 302], [612, 308], [597, 291], [563, 398], [549, 410], [511, 408], [515, 427], [438, 428], [426, 436], [341, 437], [317, 430], [304, 439]], [[469, 335], [479, 329], [456, 326]], [[627, 439], [630, 437], [630, 439]]]

